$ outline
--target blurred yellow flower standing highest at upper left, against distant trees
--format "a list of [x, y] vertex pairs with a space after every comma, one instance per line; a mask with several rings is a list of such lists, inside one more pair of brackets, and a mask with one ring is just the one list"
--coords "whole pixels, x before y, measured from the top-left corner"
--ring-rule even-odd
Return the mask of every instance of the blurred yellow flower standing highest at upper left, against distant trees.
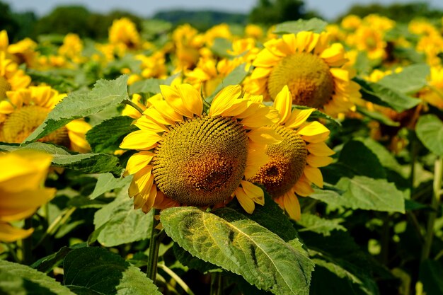
[[109, 42], [113, 45], [125, 45], [129, 49], [138, 48], [140, 36], [135, 24], [129, 18], [113, 21], [109, 29]]

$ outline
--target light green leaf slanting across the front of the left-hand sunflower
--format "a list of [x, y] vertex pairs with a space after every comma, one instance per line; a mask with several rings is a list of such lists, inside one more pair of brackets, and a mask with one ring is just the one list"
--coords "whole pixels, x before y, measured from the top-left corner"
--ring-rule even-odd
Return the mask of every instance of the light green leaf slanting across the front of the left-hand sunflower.
[[47, 115], [45, 122], [37, 127], [25, 142], [36, 141], [74, 119], [96, 114], [129, 99], [127, 79], [128, 76], [123, 75], [112, 81], [99, 80], [92, 91], [70, 93], [57, 103], [54, 110]]

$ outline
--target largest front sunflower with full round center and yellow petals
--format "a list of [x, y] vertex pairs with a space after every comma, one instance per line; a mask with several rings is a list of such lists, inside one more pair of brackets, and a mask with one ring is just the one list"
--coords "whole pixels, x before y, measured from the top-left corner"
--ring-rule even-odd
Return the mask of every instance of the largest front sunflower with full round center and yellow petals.
[[161, 86], [161, 93], [164, 100], [152, 101], [134, 123], [139, 130], [120, 145], [139, 151], [125, 171], [134, 175], [129, 189], [134, 209], [209, 207], [234, 196], [248, 213], [255, 203], [263, 204], [263, 190], [248, 178], [266, 163], [266, 144], [280, 142], [263, 127], [277, 119], [277, 112], [260, 98], [241, 98], [241, 86], [222, 89], [207, 113], [190, 84]]

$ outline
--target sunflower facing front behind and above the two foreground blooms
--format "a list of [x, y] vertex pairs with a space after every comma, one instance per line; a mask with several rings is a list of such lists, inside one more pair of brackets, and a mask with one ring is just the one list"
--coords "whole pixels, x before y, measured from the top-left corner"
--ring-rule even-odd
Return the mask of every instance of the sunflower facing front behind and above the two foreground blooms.
[[329, 115], [350, 110], [359, 86], [343, 45], [328, 45], [327, 33], [299, 32], [269, 40], [258, 55], [247, 91], [274, 100], [287, 85], [296, 105], [320, 108]]

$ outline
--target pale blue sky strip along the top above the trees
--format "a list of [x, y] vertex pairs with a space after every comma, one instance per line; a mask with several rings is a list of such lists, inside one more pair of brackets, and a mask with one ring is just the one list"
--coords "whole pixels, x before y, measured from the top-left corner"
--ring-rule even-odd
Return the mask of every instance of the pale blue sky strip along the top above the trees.
[[[130, 11], [139, 16], [149, 17], [156, 11], [171, 8], [185, 9], [218, 9], [221, 11], [247, 13], [258, 0], [2, 0], [8, 3], [13, 11], [35, 11], [38, 16], [49, 13], [58, 5], [80, 4], [91, 11], [106, 13], [121, 9]], [[305, 0], [306, 8], [321, 13], [328, 19], [333, 19], [353, 4], [380, 4], [407, 3], [414, 0]], [[443, 9], [442, 0], [427, 0], [431, 6]]]

